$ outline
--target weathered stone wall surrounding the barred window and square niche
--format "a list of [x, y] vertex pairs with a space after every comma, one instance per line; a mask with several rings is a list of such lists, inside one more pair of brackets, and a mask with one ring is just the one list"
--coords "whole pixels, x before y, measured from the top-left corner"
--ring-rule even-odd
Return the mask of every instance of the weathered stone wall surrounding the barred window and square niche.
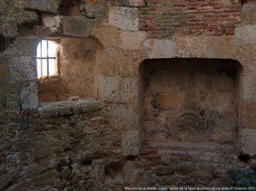
[[[176, 1], [169, 2], [162, 9], [177, 5]], [[196, 9], [207, 9], [202, 4], [209, 2], [196, 1], [201, 4]], [[199, 29], [207, 14], [194, 14], [193, 26], [187, 26], [191, 20], [181, 19], [180, 14], [168, 17], [170, 29], [158, 14], [154, 22], [162, 23], [164, 32], [146, 32], [140, 30], [142, 13], [149, 11], [148, 6], [158, 6], [163, 1], [0, 0], [0, 189], [222, 187], [241, 186], [240, 178], [246, 179], [246, 185], [255, 185], [255, 3], [211, 2], [216, 7], [208, 7], [210, 16], [215, 14], [218, 20], [207, 22], [206, 28]], [[187, 15], [188, 8], [196, 13], [192, 11], [194, 5], [185, 5], [172, 9], [172, 14], [180, 9]], [[227, 12], [223, 13], [224, 10]], [[151, 13], [155, 14], [154, 10]], [[180, 19], [184, 26], [173, 27], [174, 21]], [[218, 29], [210, 31], [212, 26]], [[183, 32], [190, 27], [195, 27], [195, 31]], [[92, 96], [97, 101], [80, 102], [76, 98], [39, 107], [35, 49], [42, 38], [81, 38], [90, 42], [79, 49], [83, 53], [63, 50], [63, 56], [70, 55], [73, 65], [64, 65], [62, 70], [76, 71], [75, 74], [83, 71], [75, 78], [66, 78], [72, 79], [67, 96], [71, 92], [70, 96]], [[75, 43], [68, 41], [62, 44], [73, 47]], [[84, 52], [94, 49], [95, 42], [100, 47], [99, 54], [75, 63], [73, 55], [84, 58]], [[139, 67], [145, 60], [173, 58], [229, 59], [241, 64], [241, 91], [236, 96], [236, 146], [220, 144], [205, 149], [193, 145], [142, 145], [145, 137]], [[89, 81], [83, 78], [86, 64], [96, 66]], [[57, 87], [52, 86], [51, 90]], [[236, 168], [238, 174], [243, 171], [246, 175], [237, 177]]]

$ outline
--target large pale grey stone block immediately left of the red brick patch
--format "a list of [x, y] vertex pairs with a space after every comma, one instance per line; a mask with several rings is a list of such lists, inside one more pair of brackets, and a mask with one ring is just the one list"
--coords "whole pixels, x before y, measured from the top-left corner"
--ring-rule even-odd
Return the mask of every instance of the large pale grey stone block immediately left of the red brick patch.
[[108, 23], [124, 31], [138, 31], [138, 9], [113, 7], [109, 10]]

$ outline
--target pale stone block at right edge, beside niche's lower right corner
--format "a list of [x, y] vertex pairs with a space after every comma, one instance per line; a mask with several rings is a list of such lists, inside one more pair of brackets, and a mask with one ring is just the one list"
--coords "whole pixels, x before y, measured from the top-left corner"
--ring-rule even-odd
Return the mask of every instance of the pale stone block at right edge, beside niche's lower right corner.
[[256, 154], [256, 130], [241, 130], [241, 151], [249, 155]]

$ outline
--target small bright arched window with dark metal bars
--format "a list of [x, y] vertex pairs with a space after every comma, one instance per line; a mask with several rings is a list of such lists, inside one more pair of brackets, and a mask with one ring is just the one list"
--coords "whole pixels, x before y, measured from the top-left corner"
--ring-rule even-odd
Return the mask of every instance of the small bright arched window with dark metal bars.
[[58, 52], [58, 44], [55, 43], [54, 41], [42, 40], [40, 43], [38, 43], [38, 49], [37, 49], [38, 78], [55, 76], [58, 74], [57, 52]]

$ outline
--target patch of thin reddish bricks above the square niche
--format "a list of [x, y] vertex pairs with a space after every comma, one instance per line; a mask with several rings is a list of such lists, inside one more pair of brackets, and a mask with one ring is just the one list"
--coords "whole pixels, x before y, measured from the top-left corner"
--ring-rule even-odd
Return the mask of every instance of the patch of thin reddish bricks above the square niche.
[[139, 29], [148, 32], [148, 38], [234, 35], [240, 14], [241, 3], [237, 0], [149, 0], [139, 9]]

